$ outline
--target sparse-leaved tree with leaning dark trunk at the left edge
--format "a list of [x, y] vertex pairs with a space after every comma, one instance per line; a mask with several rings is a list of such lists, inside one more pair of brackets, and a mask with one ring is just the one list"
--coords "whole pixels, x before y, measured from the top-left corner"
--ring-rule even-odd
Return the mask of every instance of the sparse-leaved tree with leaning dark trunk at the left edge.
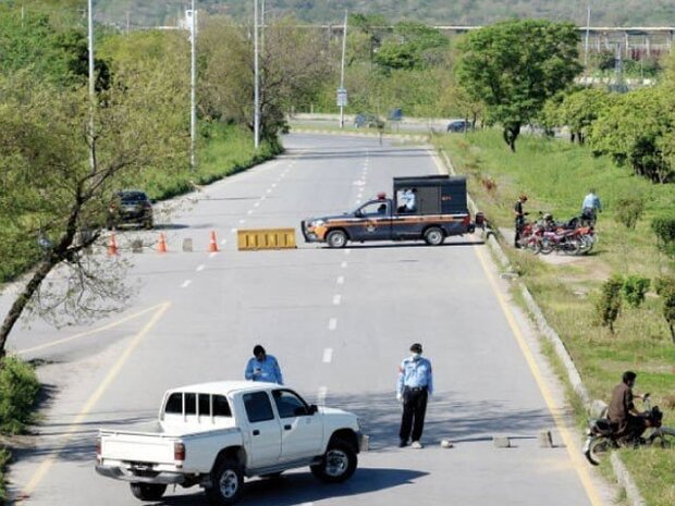
[[[187, 165], [186, 125], [171, 121], [185, 110], [184, 98], [167, 72], [118, 67], [114, 84], [98, 95], [94, 136], [86, 87], [61, 89], [27, 71], [0, 76], [0, 257], [14, 248], [36, 251], [0, 325], [0, 357], [26, 308], [86, 320], [123, 304], [118, 262], [85, 251], [97, 244], [108, 203], [130, 174]], [[51, 284], [57, 268], [63, 281]]]

